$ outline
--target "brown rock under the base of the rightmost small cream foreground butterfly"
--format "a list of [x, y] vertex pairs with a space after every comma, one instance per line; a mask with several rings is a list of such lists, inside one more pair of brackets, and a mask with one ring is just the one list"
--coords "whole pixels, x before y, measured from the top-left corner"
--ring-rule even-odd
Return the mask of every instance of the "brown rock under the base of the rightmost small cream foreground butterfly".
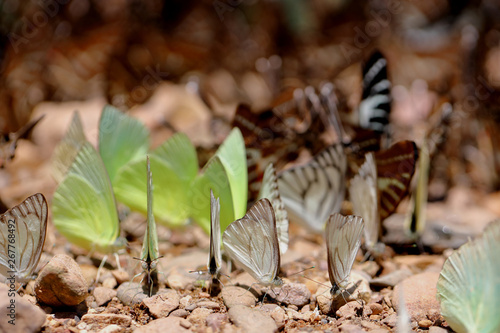
[[368, 303], [371, 298], [371, 289], [368, 283], [369, 276], [363, 272], [352, 271], [349, 278], [347, 291], [339, 292], [332, 298], [329, 289], [330, 284], [320, 285], [316, 291], [316, 302], [323, 314], [335, 312], [346, 302], [364, 301]]

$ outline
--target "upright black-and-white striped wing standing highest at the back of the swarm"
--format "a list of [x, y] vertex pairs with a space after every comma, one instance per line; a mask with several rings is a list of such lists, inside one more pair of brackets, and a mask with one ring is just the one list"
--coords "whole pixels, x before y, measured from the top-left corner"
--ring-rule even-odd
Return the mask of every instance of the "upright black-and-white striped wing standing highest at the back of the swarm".
[[374, 52], [363, 66], [363, 95], [359, 104], [359, 125], [387, 133], [391, 112], [391, 82], [387, 77], [387, 60]]

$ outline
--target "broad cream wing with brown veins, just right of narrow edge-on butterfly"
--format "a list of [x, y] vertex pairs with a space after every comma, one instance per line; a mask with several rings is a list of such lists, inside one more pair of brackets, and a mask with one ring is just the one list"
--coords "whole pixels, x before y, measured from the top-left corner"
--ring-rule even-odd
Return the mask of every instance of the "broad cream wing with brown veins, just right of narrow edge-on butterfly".
[[243, 218], [231, 223], [222, 242], [231, 259], [257, 281], [277, 284], [280, 253], [274, 211], [268, 199], [260, 199]]

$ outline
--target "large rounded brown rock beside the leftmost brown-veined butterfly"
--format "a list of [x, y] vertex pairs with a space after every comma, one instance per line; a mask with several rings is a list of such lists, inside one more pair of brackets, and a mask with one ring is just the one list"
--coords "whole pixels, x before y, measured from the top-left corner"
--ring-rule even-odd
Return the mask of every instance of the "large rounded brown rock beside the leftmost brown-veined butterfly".
[[87, 281], [80, 266], [65, 254], [55, 255], [35, 281], [38, 301], [51, 306], [74, 306], [87, 297]]

